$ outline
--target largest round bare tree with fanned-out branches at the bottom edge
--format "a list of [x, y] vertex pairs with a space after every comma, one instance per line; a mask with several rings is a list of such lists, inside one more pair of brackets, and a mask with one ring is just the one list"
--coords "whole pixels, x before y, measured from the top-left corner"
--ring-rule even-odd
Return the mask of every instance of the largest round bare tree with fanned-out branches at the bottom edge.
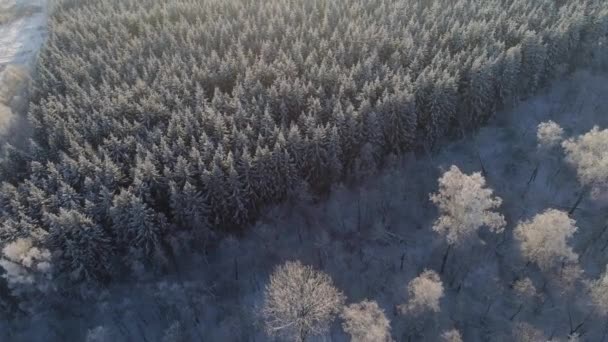
[[331, 278], [299, 261], [275, 268], [266, 285], [262, 315], [269, 335], [302, 342], [327, 332], [344, 306]]

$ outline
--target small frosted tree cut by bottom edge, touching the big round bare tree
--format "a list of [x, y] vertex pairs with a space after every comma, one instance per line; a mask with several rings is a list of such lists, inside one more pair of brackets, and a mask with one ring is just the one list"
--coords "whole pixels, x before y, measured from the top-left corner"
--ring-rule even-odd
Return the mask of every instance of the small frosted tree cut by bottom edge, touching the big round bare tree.
[[342, 328], [352, 342], [389, 342], [391, 324], [375, 301], [364, 300], [344, 308]]

